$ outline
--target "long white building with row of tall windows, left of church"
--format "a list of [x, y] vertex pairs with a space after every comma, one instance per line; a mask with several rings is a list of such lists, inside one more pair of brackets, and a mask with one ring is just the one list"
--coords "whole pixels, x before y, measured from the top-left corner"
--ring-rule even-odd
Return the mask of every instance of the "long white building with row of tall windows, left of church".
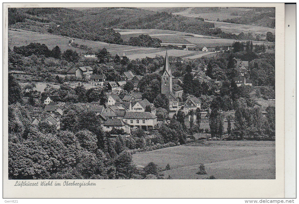
[[126, 112], [123, 121], [131, 127], [139, 127], [144, 130], [157, 127], [157, 116], [150, 112]]

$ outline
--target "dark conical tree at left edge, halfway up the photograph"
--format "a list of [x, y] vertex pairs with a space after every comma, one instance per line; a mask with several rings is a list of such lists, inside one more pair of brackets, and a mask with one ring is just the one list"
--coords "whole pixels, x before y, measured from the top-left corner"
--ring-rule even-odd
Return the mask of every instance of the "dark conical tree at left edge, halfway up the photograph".
[[8, 74], [8, 105], [22, 102], [22, 89], [12, 74]]

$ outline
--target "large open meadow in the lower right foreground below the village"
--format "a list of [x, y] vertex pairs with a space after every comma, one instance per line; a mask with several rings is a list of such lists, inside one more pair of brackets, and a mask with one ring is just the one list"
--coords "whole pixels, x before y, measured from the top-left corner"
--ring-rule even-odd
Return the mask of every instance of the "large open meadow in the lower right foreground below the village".
[[[201, 145], [201, 146], [191, 146]], [[275, 142], [272, 141], [205, 141], [188, 146], [167, 147], [133, 154], [134, 162], [145, 166], [155, 162], [171, 170], [164, 176], [173, 179], [197, 179], [210, 175], [217, 179], [275, 179]], [[199, 164], [207, 175], [198, 175]]]

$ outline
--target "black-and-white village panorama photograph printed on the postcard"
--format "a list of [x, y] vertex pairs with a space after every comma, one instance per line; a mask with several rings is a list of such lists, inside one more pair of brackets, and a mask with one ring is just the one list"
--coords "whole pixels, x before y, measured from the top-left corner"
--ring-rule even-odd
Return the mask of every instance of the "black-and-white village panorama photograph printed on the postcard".
[[7, 12], [9, 179], [275, 179], [275, 7]]

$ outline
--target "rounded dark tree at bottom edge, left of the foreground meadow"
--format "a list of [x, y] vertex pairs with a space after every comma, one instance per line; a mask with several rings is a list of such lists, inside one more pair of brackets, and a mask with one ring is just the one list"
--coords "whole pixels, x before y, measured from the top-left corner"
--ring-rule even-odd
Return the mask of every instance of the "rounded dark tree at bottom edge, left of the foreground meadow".
[[117, 179], [132, 178], [134, 165], [132, 155], [128, 151], [123, 151], [115, 159], [115, 174]]

